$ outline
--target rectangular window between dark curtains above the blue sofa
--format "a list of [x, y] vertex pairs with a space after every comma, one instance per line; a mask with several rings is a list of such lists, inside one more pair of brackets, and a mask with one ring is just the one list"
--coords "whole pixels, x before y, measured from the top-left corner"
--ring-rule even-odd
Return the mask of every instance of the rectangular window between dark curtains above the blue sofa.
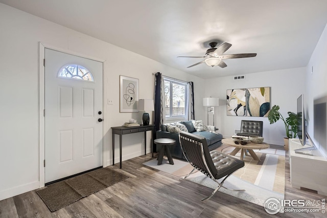
[[188, 83], [164, 78], [166, 118], [186, 118]]

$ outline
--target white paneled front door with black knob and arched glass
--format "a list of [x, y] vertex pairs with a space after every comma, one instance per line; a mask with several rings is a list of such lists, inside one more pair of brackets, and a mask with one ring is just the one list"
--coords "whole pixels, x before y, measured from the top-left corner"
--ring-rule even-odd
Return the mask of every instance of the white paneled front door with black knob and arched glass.
[[102, 166], [102, 68], [45, 49], [45, 183]]

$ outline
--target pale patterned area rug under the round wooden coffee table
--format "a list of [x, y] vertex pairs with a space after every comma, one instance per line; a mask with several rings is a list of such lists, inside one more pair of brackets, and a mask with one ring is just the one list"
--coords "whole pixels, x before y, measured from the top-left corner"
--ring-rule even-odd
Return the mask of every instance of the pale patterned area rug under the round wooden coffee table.
[[[229, 154], [233, 147], [222, 145], [216, 150]], [[224, 183], [224, 186], [229, 189], [246, 191], [238, 192], [225, 188], [220, 188], [219, 191], [260, 206], [264, 206], [269, 198], [285, 199], [285, 150], [269, 148], [253, 151], [260, 161], [253, 160], [250, 155], [244, 156], [245, 166], [233, 173]], [[236, 157], [240, 158], [240, 154], [239, 152]], [[171, 165], [166, 157], [161, 165], [157, 165], [156, 159], [145, 162], [144, 165], [178, 177], [188, 175], [193, 169], [188, 162], [178, 159], [174, 159], [174, 165]], [[212, 189], [217, 187], [216, 182], [199, 171], [194, 172], [187, 179]]]

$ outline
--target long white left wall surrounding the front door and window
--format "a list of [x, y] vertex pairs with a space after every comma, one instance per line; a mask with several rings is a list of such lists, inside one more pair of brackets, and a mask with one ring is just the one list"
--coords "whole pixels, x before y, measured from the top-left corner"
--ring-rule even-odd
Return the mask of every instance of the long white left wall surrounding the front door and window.
[[[99, 27], [101, 28], [101, 27]], [[67, 29], [31, 14], [0, 4], [0, 200], [39, 188], [39, 42], [89, 57], [106, 60], [106, 155], [111, 164], [111, 126], [140, 113], [119, 112], [119, 76], [139, 79], [139, 98], [152, 99], [153, 73], [161, 72], [184, 81], [194, 81], [195, 110], [201, 111], [203, 79], [162, 63]], [[40, 72], [41, 73], [41, 72]], [[152, 114], [150, 114], [153, 119]], [[153, 121], [151, 121], [152, 123]], [[123, 160], [143, 154], [143, 133], [123, 137]], [[119, 145], [119, 137], [116, 145]], [[148, 132], [147, 152], [151, 134]], [[119, 162], [119, 146], [115, 163]]]

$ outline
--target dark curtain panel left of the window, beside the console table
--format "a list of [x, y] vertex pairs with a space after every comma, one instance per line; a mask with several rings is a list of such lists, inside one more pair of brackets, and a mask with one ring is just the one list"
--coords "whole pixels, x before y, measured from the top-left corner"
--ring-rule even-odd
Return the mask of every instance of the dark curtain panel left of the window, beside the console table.
[[[160, 114], [161, 114], [161, 73], [155, 74], [155, 93], [154, 93], [154, 131], [153, 140], [156, 139], [156, 132], [160, 128]], [[156, 144], [153, 143], [153, 151], [157, 150]]]

